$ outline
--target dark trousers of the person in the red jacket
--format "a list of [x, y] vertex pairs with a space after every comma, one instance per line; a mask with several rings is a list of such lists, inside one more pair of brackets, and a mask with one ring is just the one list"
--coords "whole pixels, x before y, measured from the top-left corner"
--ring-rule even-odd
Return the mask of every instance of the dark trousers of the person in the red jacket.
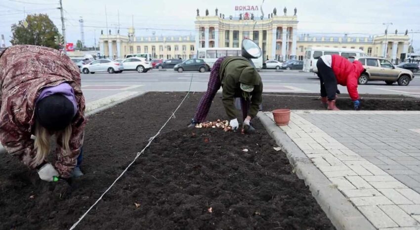
[[336, 99], [337, 79], [333, 69], [321, 58], [316, 62], [316, 68], [318, 68], [317, 74], [321, 84], [321, 97], [328, 97], [330, 101]]

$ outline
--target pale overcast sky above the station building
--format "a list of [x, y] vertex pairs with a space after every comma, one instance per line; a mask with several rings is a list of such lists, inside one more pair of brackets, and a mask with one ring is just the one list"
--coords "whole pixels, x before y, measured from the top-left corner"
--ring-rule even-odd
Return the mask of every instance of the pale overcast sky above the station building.
[[[10, 45], [10, 26], [24, 18], [26, 13], [46, 13], [61, 33], [59, 0], [1, 0], [0, 1], [0, 34], [4, 34], [6, 45]], [[194, 35], [196, 9], [200, 15], [206, 8], [214, 15], [217, 7], [219, 13], [229, 15], [235, 12], [235, 5], [260, 5], [265, 14], [277, 8], [277, 14], [283, 14], [286, 6], [288, 15], [297, 8], [298, 34], [334, 34], [344, 33], [358, 35], [383, 34], [382, 23], [392, 22], [389, 33], [395, 29], [399, 33], [413, 30], [414, 47], [420, 51], [420, 0], [63, 0], [67, 28], [67, 41], [81, 39], [79, 19], [84, 19], [84, 37], [87, 46], [94, 44], [100, 31], [106, 30], [105, 6], [107, 8], [108, 27], [115, 33], [120, 15], [121, 34], [126, 35], [128, 28], [134, 27], [136, 36], [156, 35]], [[228, 2], [228, 3], [226, 3]], [[261, 12], [255, 12], [259, 17]], [[145, 29], [149, 28], [149, 29]]]

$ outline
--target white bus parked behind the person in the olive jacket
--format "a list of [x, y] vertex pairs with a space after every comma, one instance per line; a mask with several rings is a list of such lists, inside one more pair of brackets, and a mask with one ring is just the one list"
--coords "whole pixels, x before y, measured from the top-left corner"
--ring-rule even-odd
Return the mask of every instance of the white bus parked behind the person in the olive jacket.
[[[241, 48], [199, 48], [197, 49], [197, 58], [203, 59], [206, 64], [210, 67], [213, 67], [214, 62], [217, 61], [220, 57], [225, 56], [241, 56]], [[252, 63], [255, 65], [255, 68], [262, 69], [262, 55], [259, 58], [251, 59]]]

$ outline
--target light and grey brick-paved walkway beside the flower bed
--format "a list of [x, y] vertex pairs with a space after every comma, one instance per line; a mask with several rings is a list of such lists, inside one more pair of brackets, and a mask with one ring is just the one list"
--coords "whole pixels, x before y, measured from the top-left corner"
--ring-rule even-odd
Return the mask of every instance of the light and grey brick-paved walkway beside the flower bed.
[[376, 228], [420, 230], [420, 112], [292, 111], [280, 128]]

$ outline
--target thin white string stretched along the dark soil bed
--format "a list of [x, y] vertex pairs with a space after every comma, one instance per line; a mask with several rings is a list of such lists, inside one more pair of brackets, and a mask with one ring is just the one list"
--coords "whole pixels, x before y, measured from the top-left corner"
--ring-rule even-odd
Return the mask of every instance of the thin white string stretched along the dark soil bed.
[[126, 171], [128, 170], [128, 168], [137, 160], [137, 158], [144, 153], [144, 151], [150, 146], [150, 144], [152, 143], [152, 141], [161, 133], [162, 129], [166, 126], [166, 124], [169, 122], [169, 120], [175, 116], [176, 111], [179, 109], [179, 107], [181, 107], [182, 103], [185, 101], [185, 99], [187, 98], [188, 94], [190, 94], [190, 90], [191, 90], [191, 83], [193, 81], [193, 76], [194, 74], [191, 74], [191, 81], [190, 81], [190, 87], [188, 88], [188, 92], [185, 95], [184, 99], [182, 99], [181, 103], [179, 103], [178, 107], [176, 107], [175, 111], [169, 116], [168, 120], [165, 122], [165, 124], [159, 129], [159, 131], [156, 133], [155, 136], [151, 137], [149, 139], [149, 143], [147, 143], [146, 147], [144, 147], [144, 149], [141, 152], [138, 152], [136, 154], [136, 156], [134, 157], [134, 159], [131, 161], [131, 163], [128, 164], [128, 166], [126, 167], [126, 169], [124, 169], [124, 171], [120, 174], [120, 176], [117, 177], [117, 179], [115, 179], [115, 181], [111, 184], [111, 186], [104, 192], [102, 193], [102, 195], [96, 200], [96, 202], [90, 206], [89, 209], [87, 209], [87, 211], [79, 218], [79, 220], [74, 223], [74, 225], [70, 228], [70, 230], [74, 230], [79, 223], [84, 219], [84, 217], [87, 215], [87, 213], [90, 212], [90, 210], [102, 199], [102, 197], [111, 190], [111, 188], [117, 183], [118, 180], [120, 180], [120, 178], [126, 173]]

